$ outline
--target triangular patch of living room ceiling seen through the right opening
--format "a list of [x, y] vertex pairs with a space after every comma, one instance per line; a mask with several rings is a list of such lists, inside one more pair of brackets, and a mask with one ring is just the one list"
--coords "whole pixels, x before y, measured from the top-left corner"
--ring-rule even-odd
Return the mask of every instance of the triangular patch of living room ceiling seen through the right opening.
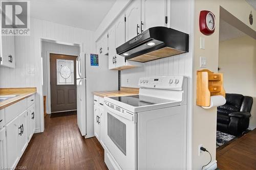
[[246, 34], [237, 28], [229, 25], [226, 21], [220, 19], [220, 39], [219, 41], [225, 41], [233, 38], [245, 36]]

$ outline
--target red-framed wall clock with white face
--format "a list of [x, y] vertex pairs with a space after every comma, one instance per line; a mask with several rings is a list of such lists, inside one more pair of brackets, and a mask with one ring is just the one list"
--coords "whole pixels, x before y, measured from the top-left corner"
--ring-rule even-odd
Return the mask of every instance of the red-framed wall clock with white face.
[[210, 11], [201, 11], [199, 16], [199, 28], [204, 35], [211, 35], [215, 31], [215, 15]]

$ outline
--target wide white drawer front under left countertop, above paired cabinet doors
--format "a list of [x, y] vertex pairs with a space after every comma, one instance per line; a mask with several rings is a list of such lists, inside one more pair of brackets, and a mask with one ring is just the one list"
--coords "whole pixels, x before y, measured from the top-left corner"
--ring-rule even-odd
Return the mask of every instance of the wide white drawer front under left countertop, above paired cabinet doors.
[[19, 101], [5, 108], [5, 122], [10, 122], [14, 117], [27, 109], [27, 99]]

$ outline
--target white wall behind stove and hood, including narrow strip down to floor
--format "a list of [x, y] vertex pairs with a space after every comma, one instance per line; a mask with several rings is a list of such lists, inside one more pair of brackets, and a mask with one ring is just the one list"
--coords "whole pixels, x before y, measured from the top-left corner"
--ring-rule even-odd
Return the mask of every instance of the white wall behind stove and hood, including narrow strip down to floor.
[[138, 87], [140, 77], [184, 75], [188, 77], [187, 167], [192, 167], [192, 76], [194, 50], [194, 1], [170, 1], [170, 28], [189, 34], [189, 53], [144, 63], [143, 67], [121, 71], [121, 86]]

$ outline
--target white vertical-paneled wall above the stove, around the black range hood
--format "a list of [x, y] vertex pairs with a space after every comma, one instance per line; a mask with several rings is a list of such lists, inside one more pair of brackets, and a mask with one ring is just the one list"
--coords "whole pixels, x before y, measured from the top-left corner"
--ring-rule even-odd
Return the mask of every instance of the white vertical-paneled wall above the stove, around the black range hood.
[[189, 34], [189, 53], [146, 62], [143, 68], [122, 70], [121, 86], [138, 87], [139, 78], [143, 76], [185, 75], [192, 78], [194, 2], [189, 0], [167, 2], [167, 12], [170, 13], [169, 27]]

